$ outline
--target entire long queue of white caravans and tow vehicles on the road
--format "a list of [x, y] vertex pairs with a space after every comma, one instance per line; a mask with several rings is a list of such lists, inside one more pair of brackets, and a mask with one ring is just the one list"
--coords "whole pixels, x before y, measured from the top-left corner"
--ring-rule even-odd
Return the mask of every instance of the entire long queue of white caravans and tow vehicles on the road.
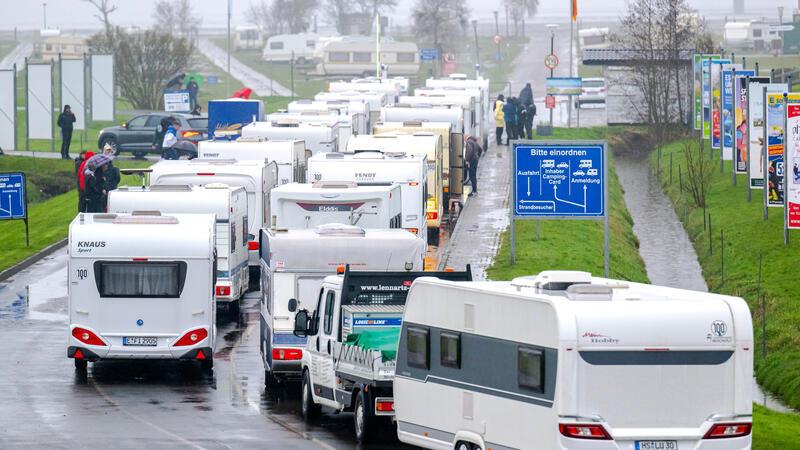
[[[360, 50], [345, 48], [350, 63]], [[469, 207], [464, 140], [488, 138], [491, 102], [485, 79], [425, 84], [410, 96], [407, 80], [335, 81], [242, 114], [241, 136], [201, 142], [197, 159], [126, 171], [142, 186], [70, 224], [76, 369], [213, 370], [218, 308], [257, 302], [265, 388], [294, 391], [306, 420], [352, 414], [359, 442], [390, 430], [432, 449], [750, 448], [742, 299], [443, 267]]]

